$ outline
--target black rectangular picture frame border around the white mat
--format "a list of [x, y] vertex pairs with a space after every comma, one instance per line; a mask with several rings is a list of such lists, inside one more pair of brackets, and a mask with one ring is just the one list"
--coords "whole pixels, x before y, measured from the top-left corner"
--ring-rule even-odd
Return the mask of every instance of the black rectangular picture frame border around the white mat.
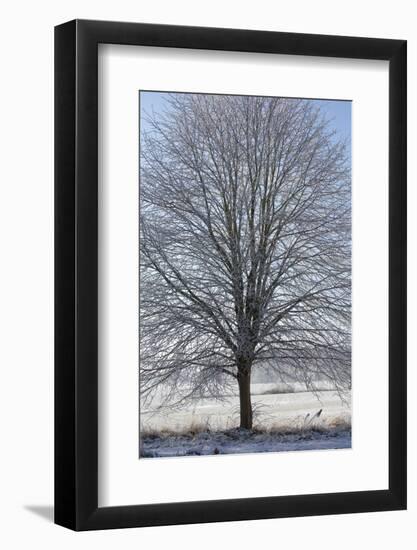
[[[98, 44], [389, 61], [389, 488], [98, 507]], [[406, 508], [406, 41], [74, 20], [55, 28], [55, 523], [74, 530]]]

